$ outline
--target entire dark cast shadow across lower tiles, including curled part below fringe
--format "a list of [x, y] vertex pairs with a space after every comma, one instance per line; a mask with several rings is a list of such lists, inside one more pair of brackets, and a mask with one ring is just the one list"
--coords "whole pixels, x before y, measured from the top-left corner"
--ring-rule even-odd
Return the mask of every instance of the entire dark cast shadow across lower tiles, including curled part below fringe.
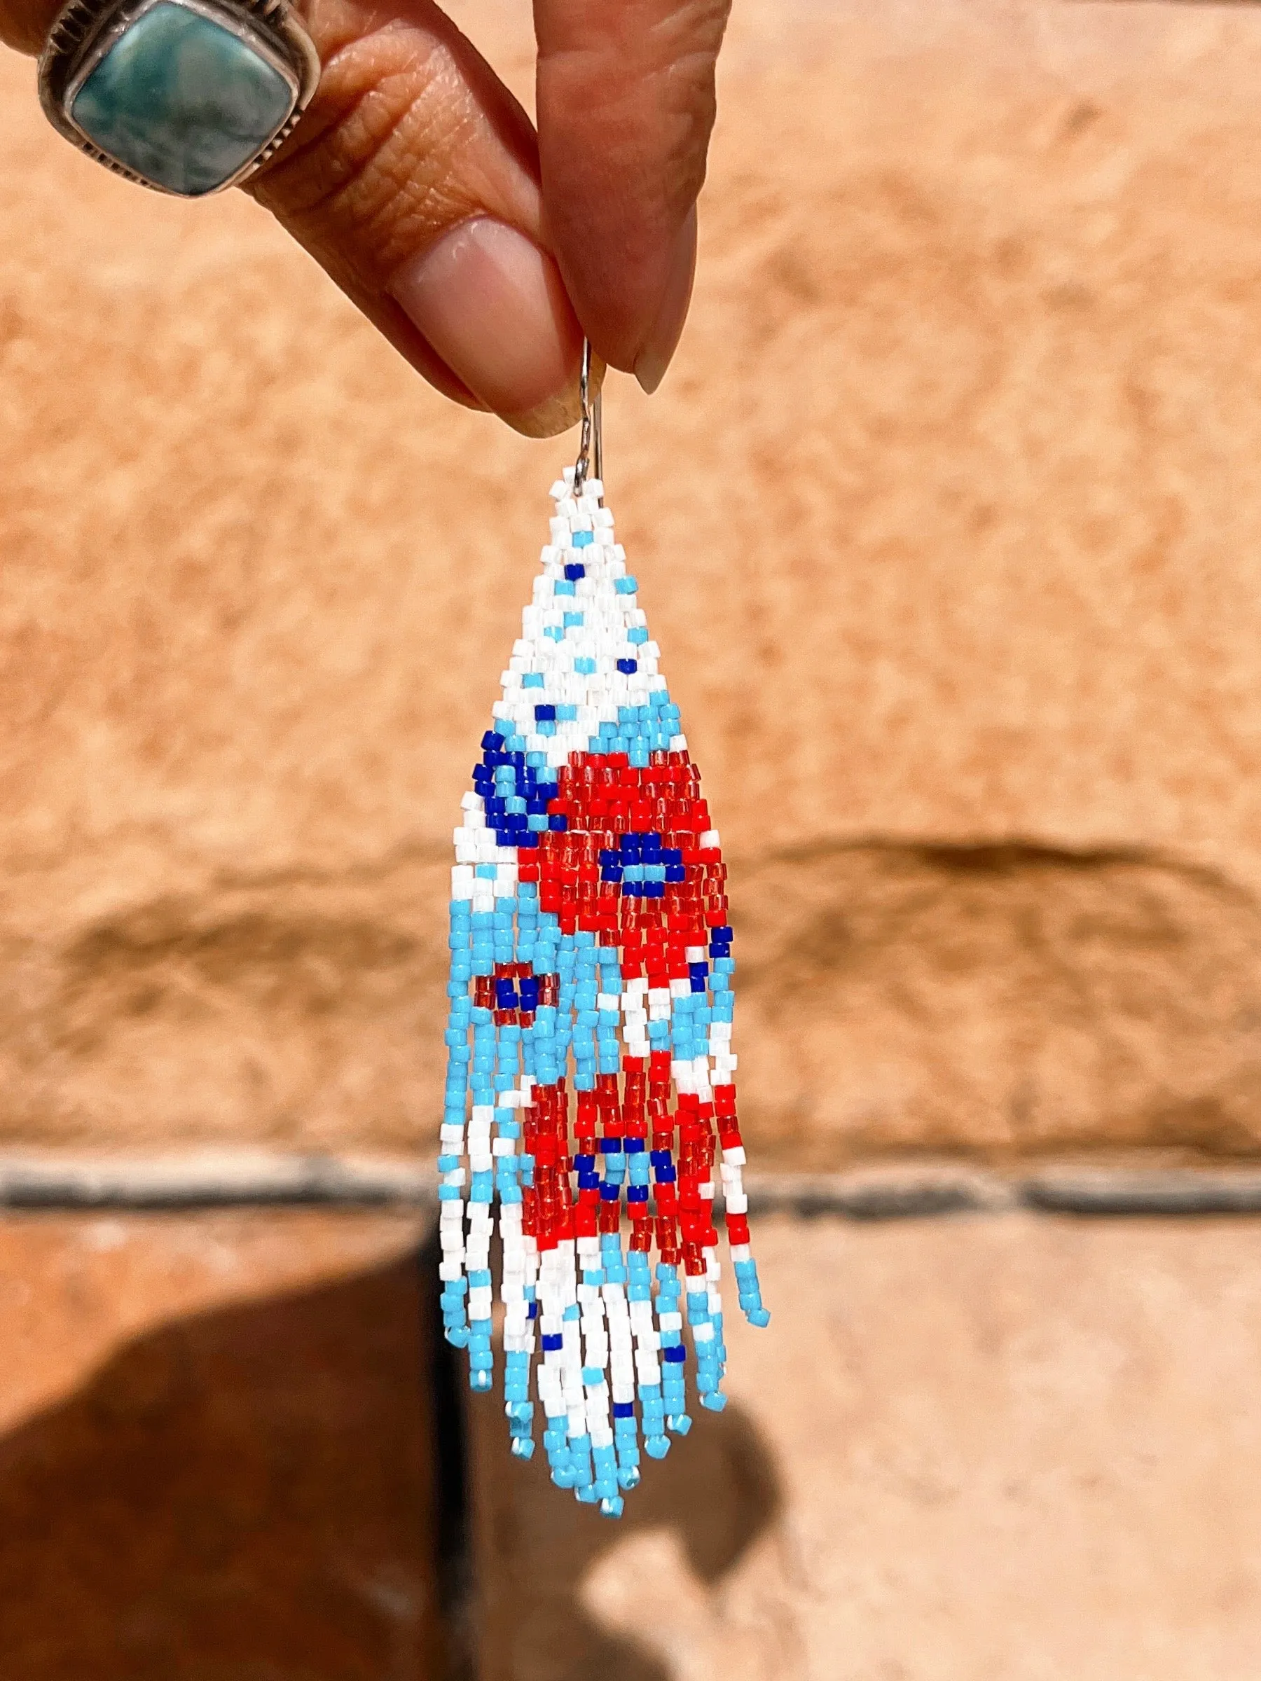
[[509, 1459], [435, 1325], [430, 1242], [163, 1325], [0, 1437], [0, 1676], [664, 1681], [583, 1577], [659, 1526], [730, 1570], [778, 1508], [748, 1420], [698, 1419], [612, 1525]]

